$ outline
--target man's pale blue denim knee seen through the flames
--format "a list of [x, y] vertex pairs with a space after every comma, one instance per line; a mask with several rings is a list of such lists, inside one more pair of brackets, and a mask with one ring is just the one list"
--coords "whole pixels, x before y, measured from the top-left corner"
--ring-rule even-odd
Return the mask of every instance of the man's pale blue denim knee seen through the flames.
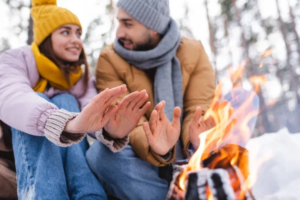
[[[258, 113], [257, 111], [259, 109], [258, 95], [253, 91], [247, 91], [239, 87], [227, 93], [222, 99], [228, 100], [231, 103], [232, 107], [235, 109], [235, 112], [232, 114], [230, 119], [236, 117], [237, 123], [227, 134], [221, 146], [231, 143], [245, 147], [256, 124]], [[247, 102], [247, 106], [242, 105], [249, 99], [251, 99], [251, 101]], [[249, 120], [247, 124], [249, 129], [245, 131], [241, 129], [241, 123], [244, 119], [246, 119], [247, 115], [251, 113], [254, 113], [254, 116]]]

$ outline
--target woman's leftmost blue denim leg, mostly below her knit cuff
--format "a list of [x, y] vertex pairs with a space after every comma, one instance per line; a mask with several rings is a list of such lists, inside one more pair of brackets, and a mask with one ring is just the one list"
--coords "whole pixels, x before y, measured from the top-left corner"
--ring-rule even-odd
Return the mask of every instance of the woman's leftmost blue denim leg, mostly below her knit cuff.
[[[38, 95], [50, 100], [42, 93]], [[63, 148], [46, 137], [14, 128], [11, 131], [18, 199], [69, 199], [63, 171]]]

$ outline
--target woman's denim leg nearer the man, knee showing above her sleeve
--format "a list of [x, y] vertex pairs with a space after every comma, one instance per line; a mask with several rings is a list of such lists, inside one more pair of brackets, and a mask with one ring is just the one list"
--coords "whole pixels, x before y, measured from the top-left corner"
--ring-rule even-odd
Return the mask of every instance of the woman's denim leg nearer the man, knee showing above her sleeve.
[[[76, 98], [70, 94], [58, 94], [51, 101], [58, 108], [70, 112], [80, 111]], [[86, 138], [66, 148], [64, 171], [69, 197], [70, 199], [107, 199], [103, 187], [85, 160], [87, 148]]]

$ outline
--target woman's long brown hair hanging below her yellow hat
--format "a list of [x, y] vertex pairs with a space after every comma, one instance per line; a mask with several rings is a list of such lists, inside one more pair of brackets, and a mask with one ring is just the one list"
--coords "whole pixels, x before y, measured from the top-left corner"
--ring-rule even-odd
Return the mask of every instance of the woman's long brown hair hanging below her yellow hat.
[[52, 47], [52, 40], [51, 35], [47, 36], [41, 44], [38, 46], [39, 51], [44, 54], [48, 59], [50, 59], [56, 66], [60, 68], [62, 74], [66, 80], [66, 82], [70, 85], [69, 81], [69, 74], [70, 72], [76, 72], [78, 70], [77, 66], [81, 66], [84, 64], [84, 76], [83, 76], [83, 86], [84, 86], [84, 93], [87, 89], [88, 84], [88, 64], [86, 60], [86, 55], [82, 48], [82, 51], [79, 55], [79, 59], [75, 62], [61, 62], [57, 56], [55, 56], [54, 49]]

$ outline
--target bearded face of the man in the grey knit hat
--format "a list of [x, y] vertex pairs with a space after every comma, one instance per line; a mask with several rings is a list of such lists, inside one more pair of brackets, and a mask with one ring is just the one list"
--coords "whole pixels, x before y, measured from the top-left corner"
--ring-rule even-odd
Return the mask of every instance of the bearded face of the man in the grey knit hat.
[[118, 7], [116, 18], [119, 21], [116, 37], [124, 48], [150, 50], [156, 46], [157, 32], [135, 20], [120, 7]]

